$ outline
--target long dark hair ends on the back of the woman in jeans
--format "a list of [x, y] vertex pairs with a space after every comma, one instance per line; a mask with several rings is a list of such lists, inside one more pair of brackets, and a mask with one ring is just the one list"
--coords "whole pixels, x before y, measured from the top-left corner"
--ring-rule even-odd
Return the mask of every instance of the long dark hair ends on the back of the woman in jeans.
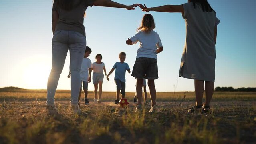
[[74, 4], [73, 0], [53, 0], [56, 3], [56, 6], [59, 6], [63, 10], [72, 10], [81, 4], [82, 0], [79, 0], [77, 4]]

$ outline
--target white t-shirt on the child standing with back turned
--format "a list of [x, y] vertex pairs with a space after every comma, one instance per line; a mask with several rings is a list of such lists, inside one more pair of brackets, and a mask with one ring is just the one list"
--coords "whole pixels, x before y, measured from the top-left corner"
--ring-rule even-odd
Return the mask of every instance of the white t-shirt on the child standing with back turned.
[[149, 33], [140, 31], [135, 34], [135, 36], [131, 37], [131, 41], [134, 44], [140, 42], [136, 58], [146, 57], [157, 59], [156, 50], [163, 46], [159, 35], [153, 30]]

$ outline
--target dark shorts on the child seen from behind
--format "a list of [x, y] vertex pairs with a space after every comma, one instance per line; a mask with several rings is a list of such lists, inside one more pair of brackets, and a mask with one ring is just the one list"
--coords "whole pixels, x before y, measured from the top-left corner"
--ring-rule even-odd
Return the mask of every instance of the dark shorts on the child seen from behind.
[[136, 58], [131, 76], [139, 79], [155, 80], [158, 78], [157, 60], [155, 58]]

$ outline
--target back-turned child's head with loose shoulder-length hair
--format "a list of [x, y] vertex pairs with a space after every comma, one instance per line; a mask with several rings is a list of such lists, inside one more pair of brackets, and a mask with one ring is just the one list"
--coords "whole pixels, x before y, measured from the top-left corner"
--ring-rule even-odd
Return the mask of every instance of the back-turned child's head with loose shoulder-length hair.
[[141, 26], [137, 28], [137, 31], [150, 32], [155, 28], [155, 21], [151, 14], [145, 14], [141, 20]]

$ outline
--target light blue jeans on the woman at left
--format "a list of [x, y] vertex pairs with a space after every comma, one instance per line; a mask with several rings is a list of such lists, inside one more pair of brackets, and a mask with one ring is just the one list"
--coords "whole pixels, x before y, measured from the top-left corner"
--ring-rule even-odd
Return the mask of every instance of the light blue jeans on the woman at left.
[[52, 70], [47, 84], [46, 104], [54, 104], [54, 96], [58, 80], [63, 70], [67, 52], [69, 50], [71, 74], [70, 104], [77, 104], [81, 86], [80, 70], [85, 55], [86, 38], [83, 34], [74, 31], [59, 30], [54, 32], [52, 38]]

